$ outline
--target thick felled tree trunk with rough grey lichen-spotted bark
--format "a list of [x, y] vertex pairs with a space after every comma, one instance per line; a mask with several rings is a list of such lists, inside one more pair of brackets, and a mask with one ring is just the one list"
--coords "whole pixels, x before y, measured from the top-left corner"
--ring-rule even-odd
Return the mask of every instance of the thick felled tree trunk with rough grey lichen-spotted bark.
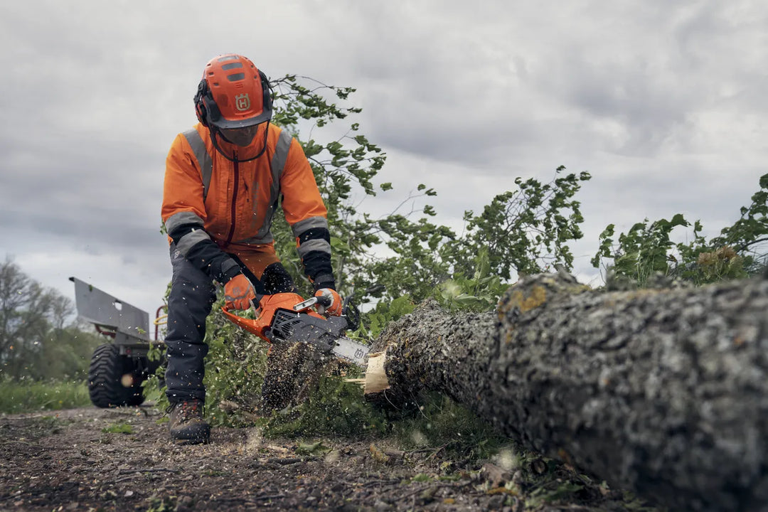
[[392, 324], [370, 365], [385, 382], [366, 398], [441, 391], [525, 448], [673, 510], [764, 510], [766, 319], [765, 280], [597, 292], [531, 276], [496, 312], [425, 302]]

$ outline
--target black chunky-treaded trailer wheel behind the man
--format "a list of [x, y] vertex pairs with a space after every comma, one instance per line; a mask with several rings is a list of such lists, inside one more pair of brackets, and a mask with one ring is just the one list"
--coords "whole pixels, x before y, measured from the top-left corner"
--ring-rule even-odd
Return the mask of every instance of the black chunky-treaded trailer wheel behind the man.
[[88, 368], [88, 395], [96, 407], [141, 405], [141, 375], [131, 358], [120, 355], [116, 345], [99, 345]]

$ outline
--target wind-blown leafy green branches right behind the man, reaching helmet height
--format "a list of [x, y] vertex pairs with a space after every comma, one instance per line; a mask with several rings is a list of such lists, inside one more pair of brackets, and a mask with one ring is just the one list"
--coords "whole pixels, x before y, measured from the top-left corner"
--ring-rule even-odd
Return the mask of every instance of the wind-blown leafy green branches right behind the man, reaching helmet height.
[[[590, 179], [588, 173], [561, 176], [560, 167], [551, 183], [518, 178], [518, 190], [496, 196], [481, 215], [465, 213], [462, 236], [433, 222], [436, 212], [429, 204], [415, 206], [437, 194], [423, 183], [401, 194], [395, 210], [373, 217], [361, 210], [366, 197], [394, 192], [391, 183], [375, 184], [386, 154], [359, 133], [359, 124], [348, 121], [360, 109], [333, 103], [348, 100], [354, 89], [296, 75], [273, 81], [273, 88], [273, 122], [300, 140], [326, 202], [333, 269], [344, 296], [353, 295], [356, 302], [375, 298], [388, 303], [401, 296], [416, 302], [430, 296], [442, 300], [446, 293], [466, 295], [461, 283], [478, 271], [508, 282], [517, 273], [541, 272], [554, 263], [571, 268], [568, 242], [581, 238], [583, 222], [574, 194]], [[329, 141], [316, 139], [328, 134], [335, 135]], [[276, 219], [280, 258], [297, 282], [306, 281], [293, 235], [282, 216]], [[308, 283], [305, 288], [309, 292]]]

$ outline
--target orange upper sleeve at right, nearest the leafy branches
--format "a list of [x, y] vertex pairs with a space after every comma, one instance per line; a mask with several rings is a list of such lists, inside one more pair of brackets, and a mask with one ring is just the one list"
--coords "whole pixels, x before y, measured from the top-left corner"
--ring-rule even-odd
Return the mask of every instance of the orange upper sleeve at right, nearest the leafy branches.
[[290, 226], [315, 216], [328, 216], [323, 197], [317, 188], [315, 174], [298, 140], [291, 141], [288, 158], [280, 177], [283, 212]]

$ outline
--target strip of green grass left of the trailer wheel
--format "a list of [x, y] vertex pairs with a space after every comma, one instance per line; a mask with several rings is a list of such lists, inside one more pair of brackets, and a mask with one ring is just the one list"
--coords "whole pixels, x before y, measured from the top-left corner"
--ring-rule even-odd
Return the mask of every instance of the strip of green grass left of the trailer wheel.
[[0, 413], [57, 411], [88, 407], [84, 382], [15, 382], [0, 380]]

